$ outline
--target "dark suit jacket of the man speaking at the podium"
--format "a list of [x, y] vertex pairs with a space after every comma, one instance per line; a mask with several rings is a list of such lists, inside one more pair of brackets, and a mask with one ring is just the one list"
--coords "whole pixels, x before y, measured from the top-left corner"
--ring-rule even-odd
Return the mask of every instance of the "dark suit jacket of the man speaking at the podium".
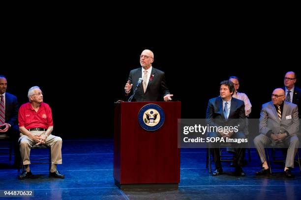
[[[141, 67], [130, 71], [128, 80], [131, 84], [133, 84], [133, 87], [131, 89], [131, 92], [129, 94], [126, 94], [127, 96], [132, 95], [139, 78], [141, 78], [141, 75]], [[163, 101], [163, 97], [168, 94], [170, 94], [170, 92], [166, 85], [165, 73], [152, 67], [151, 76], [146, 92], [144, 93], [141, 83], [132, 101]]]

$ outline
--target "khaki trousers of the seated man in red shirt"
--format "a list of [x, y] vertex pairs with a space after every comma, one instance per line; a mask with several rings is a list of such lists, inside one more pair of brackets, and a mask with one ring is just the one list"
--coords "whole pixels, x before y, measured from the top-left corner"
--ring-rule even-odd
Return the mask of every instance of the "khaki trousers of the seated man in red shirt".
[[[30, 131], [31, 134], [34, 135], [40, 135], [44, 131]], [[20, 133], [21, 137], [19, 138], [20, 143], [20, 153], [23, 160], [23, 165], [29, 165], [30, 164], [30, 147], [32, 145], [35, 145], [36, 142], [31, 140], [28, 136], [23, 135]], [[54, 136], [50, 134], [46, 141], [45, 145], [48, 147], [51, 147], [51, 164], [61, 164], [61, 144], [62, 140], [60, 137]]]

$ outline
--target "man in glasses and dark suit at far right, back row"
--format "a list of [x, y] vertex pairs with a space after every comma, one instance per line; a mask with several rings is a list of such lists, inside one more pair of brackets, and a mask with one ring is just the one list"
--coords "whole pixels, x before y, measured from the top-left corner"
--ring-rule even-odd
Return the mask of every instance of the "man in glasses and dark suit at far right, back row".
[[[282, 89], [285, 91], [285, 100], [298, 105], [299, 110], [301, 101], [301, 89], [295, 86], [297, 75], [295, 72], [287, 72], [284, 76], [284, 86]], [[299, 112], [299, 118], [301, 113]]]

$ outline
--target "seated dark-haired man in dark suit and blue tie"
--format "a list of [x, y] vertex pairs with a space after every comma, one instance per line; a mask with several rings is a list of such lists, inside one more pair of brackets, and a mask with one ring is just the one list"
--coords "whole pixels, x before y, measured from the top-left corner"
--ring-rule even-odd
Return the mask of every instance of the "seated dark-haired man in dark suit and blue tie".
[[[244, 111], [244, 102], [232, 98], [234, 92], [234, 84], [229, 80], [224, 80], [220, 83], [220, 96], [209, 100], [207, 112], [206, 112], [206, 122], [210, 126], [237, 126], [238, 131], [219, 131], [219, 132], [208, 132], [208, 137], [214, 138], [236, 138], [244, 139], [245, 135], [243, 129], [245, 126], [245, 111]], [[211, 144], [213, 148], [213, 158], [215, 162], [215, 171], [212, 175], [220, 175], [223, 173], [219, 148], [216, 148], [216, 144]], [[238, 148], [235, 156], [235, 174], [244, 176], [245, 173], [242, 170], [243, 157], [244, 157], [244, 148]]]

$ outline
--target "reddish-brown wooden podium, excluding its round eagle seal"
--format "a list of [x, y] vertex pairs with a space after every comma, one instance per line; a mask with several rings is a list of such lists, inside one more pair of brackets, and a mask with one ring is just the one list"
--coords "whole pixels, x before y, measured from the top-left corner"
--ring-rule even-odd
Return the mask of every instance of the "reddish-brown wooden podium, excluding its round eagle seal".
[[[154, 131], [138, 122], [140, 110], [148, 104], [160, 106], [165, 119]], [[178, 119], [181, 102], [121, 102], [115, 107], [114, 179], [120, 189], [178, 188], [180, 149]]]

